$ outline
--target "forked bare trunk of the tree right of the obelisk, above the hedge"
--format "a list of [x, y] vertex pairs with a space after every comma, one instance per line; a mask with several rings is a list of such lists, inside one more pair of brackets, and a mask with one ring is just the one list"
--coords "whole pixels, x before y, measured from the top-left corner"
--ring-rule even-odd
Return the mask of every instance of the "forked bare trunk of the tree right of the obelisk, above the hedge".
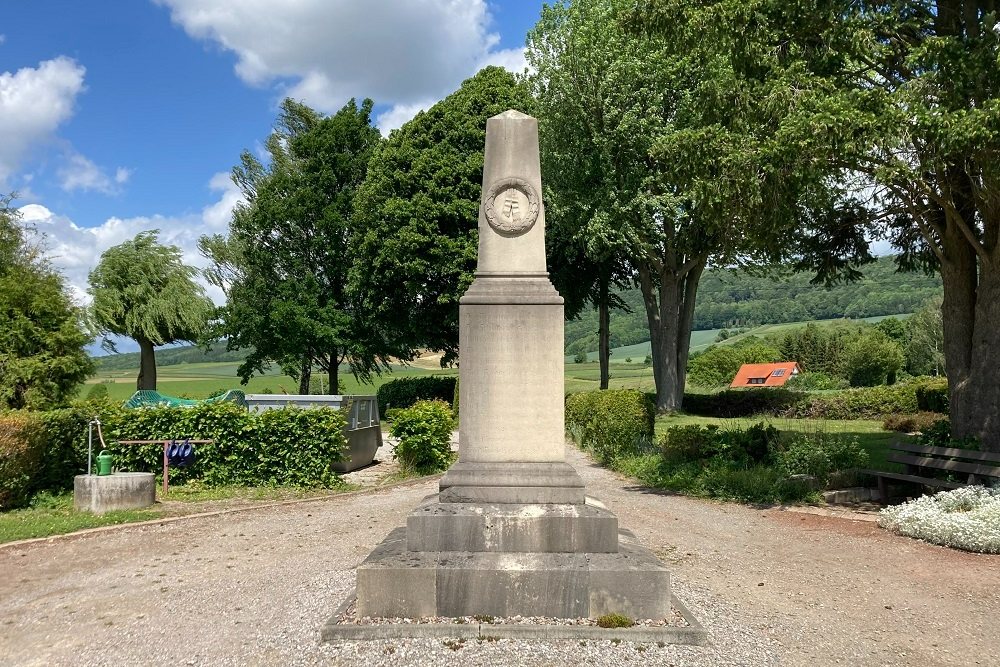
[[648, 266], [639, 269], [639, 287], [652, 347], [657, 412], [680, 410], [684, 402], [694, 303], [704, 269], [703, 258], [680, 278], [677, 272], [665, 270], [659, 285]]

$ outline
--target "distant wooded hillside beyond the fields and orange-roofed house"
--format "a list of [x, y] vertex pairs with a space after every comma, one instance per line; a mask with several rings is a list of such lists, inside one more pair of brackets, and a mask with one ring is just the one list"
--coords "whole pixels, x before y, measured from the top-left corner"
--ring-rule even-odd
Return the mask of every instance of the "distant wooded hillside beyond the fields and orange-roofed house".
[[[897, 273], [892, 257], [863, 267], [864, 278], [827, 289], [810, 285], [812, 274], [750, 276], [706, 271], [698, 288], [694, 329], [754, 327], [836, 318], [860, 319], [912, 313], [941, 294], [941, 279], [923, 273]], [[611, 311], [611, 347], [649, 340], [646, 311], [638, 289], [620, 293], [631, 312]], [[566, 353], [597, 349], [597, 312], [585, 310], [566, 322]]]

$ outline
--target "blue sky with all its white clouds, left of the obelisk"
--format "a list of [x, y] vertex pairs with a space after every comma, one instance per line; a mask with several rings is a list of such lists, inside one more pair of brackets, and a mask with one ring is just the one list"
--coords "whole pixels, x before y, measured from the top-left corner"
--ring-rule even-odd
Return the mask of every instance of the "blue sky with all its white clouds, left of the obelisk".
[[[229, 170], [285, 96], [371, 97], [388, 132], [486, 64], [523, 68], [541, 0], [13, 0], [0, 24], [0, 192], [85, 303], [87, 272], [139, 231], [203, 265]], [[212, 294], [217, 301], [220, 294]]]

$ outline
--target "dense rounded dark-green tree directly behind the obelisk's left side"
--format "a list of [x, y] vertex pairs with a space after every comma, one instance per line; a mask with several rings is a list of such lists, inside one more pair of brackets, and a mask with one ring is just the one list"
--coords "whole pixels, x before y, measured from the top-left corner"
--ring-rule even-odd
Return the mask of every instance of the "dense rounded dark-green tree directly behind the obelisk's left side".
[[486, 120], [531, 113], [531, 104], [510, 72], [486, 67], [372, 157], [358, 193], [351, 285], [398, 356], [441, 350], [445, 363], [457, 354], [458, 300], [476, 268]]

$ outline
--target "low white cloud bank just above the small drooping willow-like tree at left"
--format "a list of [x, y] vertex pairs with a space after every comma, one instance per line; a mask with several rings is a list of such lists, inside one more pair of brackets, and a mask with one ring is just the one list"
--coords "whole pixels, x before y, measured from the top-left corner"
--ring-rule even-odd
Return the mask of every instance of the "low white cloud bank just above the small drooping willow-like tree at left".
[[[27, 204], [20, 211], [25, 222], [34, 224], [45, 235], [46, 254], [66, 278], [74, 299], [85, 304], [90, 301], [87, 276], [97, 266], [101, 253], [142, 231], [159, 229], [160, 242], [179, 247], [185, 264], [205, 267], [207, 261], [198, 252], [198, 237], [225, 231], [233, 206], [240, 199], [239, 190], [231, 182], [227, 184], [227, 180], [227, 174], [215, 174], [209, 187], [221, 193], [219, 200], [206, 206], [198, 214], [181, 217], [112, 217], [96, 227], [81, 227], [41, 204]], [[200, 277], [199, 282], [213, 301], [219, 304], [225, 301], [220, 290], [208, 285]]]

